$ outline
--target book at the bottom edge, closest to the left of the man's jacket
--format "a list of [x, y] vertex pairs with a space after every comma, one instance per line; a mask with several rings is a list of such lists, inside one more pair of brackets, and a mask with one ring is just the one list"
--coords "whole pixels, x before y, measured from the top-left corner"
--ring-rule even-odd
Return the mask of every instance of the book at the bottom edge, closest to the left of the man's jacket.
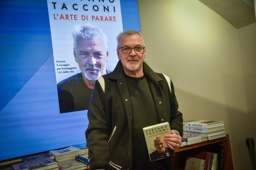
[[88, 168], [88, 166], [82, 162], [76, 160], [69, 160], [62, 163], [58, 163], [60, 170], [84, 170]]

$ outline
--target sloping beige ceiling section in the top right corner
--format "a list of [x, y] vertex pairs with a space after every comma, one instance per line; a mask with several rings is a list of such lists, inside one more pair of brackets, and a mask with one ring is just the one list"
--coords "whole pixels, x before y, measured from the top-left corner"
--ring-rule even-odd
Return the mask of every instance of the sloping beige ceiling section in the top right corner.
[[254, 0], [199, 0], [239, 29], [256, 22]]

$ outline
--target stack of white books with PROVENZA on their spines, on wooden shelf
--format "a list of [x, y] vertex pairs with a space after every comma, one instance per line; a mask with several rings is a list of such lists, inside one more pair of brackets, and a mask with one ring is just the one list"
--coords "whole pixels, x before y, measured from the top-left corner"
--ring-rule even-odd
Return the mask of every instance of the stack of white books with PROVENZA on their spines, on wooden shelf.
[[[184, 127], [183, 127], [184, 128]], [[208, 135], [208, 140], [226, 136], [224, 121], [196, 120], [185, 122], [186, 132], [196, 132]]]

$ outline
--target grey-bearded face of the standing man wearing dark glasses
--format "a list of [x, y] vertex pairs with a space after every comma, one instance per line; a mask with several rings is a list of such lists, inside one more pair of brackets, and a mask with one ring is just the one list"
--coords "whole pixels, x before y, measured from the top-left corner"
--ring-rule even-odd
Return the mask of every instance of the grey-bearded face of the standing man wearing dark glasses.
[[[138, 34], [124, 35], [120, 42], [119, 47], [143, 47], [143, 43]], [[124, 54], [122, 49], [117, 49], [118, 59], [121, 60], [125, 72], [142, 70], [142, 63], [146, 57], [146, 49], [141, 54], [135, 53], [134, 49], [130, 53]]]

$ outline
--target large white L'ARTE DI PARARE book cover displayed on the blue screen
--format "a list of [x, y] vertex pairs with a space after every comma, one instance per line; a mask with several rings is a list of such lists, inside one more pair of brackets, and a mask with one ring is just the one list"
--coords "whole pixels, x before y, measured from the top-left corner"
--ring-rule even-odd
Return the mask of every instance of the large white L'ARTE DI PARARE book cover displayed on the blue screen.
[[118, 61], [119, 0], [47, 0], [60, 113], [87, 110], [95, 80]]

